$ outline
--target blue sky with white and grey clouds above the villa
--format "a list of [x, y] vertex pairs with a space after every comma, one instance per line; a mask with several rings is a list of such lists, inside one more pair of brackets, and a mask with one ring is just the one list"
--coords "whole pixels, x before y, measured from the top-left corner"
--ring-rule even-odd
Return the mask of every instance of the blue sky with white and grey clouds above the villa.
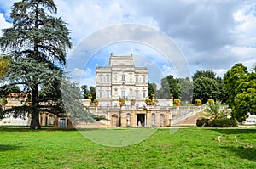
[[[9, 13], [14, 2], [0, 0], [0, 29], [12, 25]], [[148, 67], [149, 81], [158, 86], [163, 76], [182, 77], [181, 70], [189, 69], [190, 76], [196, 70], [212, 70], [222, 77], [236, 63], [246, 65], [248, 70], [256, 65], [255, 1], [55, 0], [55, 3], [57, 16], [67, 23], [73, 42], [67, 54], [67, 70], [81, 84], [95, 86], [96, 65], [107, 66], [110, 53], [132, 53], [135, 65]], [[131, 25], [131, 29], [138, 25], [143, 31], [132, 31], [135, 40], [127, 41], [131, 30], [120, 31], [117, 25]], [[109, 31], [112, 28], [114, 31]], [[123, 40], [118, 41], [117, 36], [123, 36]], [[161, 41], [165, 36], [171, 40], [169, 46]], [[161, 48], [165, 45], [169, 50]], [[94, 50], [88, 54], [84, 48]], [[175, 52], [169, 53], [172, 49]]]

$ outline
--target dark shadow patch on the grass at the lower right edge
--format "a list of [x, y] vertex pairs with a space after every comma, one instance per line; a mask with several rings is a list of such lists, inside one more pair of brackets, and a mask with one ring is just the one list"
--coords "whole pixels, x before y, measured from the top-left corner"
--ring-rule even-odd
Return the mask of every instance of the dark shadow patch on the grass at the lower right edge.
[[241, 159], [247, 159], [249, 161], [256, 162], [256, 149], [255, 148], [245, 148], [243, 146], [239, 146], [239, 147], [224, 146], [222, 148], [235, 153]]

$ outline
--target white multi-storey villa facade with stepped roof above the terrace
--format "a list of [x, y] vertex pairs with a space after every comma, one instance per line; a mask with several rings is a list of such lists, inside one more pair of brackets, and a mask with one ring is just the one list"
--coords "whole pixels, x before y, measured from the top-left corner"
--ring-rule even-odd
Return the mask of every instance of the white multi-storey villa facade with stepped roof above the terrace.
[[119, 98], [125, 104], [131, 99], [137, 103], [148, 98], [148, 68], [135, 67], [131, 56], [113, 56], [108, 67], [96, 67], [96, 99], [101, 106], [119, 106]]

